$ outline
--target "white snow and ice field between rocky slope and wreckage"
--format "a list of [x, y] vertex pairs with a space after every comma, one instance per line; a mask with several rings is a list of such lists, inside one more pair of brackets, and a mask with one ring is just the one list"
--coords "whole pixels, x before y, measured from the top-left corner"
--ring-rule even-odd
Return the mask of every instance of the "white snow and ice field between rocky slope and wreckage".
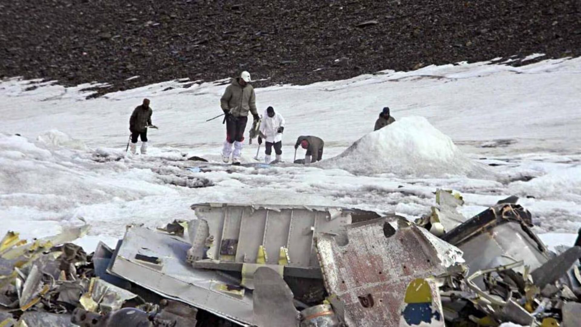
[[[221, 113], [224, 81], [167, 81], [90, 100], [85, 88], [107, 85], [1, 81], [0, 234], [42, 237], [83, 218], [92, 229], [80, 243], [92, 251], [99, 239], [114, 246], [129, 223], [193, 219], [189, 206], [199, 202], [338, 205], [414, 219], [437, 188], [462, 193], [465, 218], [519, 196], [551, 247], [571, 245], [581, 228], [579, 58], [257, 88], [259, 112], [272, 105], [286, 119], [287, 163], [270, 168], [221, 164], [224, 126], [205, 120]], [[160, 129], [148, 133], [148, 155], [127, 155], [128, 119], [144, 97]], [[396, 122], [374, 132], [386, 105]], [[289, 163], [300, 135], [325, 140], [324, 161]], [[256, 163], [256, 150], [247, 144], [243, 162]]]

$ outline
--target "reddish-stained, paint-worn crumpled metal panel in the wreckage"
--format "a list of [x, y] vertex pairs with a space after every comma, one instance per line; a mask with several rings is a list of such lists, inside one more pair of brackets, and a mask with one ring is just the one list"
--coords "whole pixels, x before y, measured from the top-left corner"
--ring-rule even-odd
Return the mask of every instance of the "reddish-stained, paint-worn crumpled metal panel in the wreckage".
[[[458, 248], [415, 225], [400, 225], [394, 230], [386, 219], [353, 224], [346, 231], [347, 244], [341, 237], [319, 234], [325, 286], [345, 303], [347, 325], [400, 325], [408, 284], [463, 262]], [[437, 287], [431, 292], [439, 299]], [[440, 301], [436, 310], [443, 326]]]

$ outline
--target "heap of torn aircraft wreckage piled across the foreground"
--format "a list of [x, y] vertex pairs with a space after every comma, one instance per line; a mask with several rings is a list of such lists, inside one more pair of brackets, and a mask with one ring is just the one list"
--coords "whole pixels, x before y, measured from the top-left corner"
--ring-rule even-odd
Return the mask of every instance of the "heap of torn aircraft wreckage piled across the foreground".
[[415, 222], [359, 209], [195, 204], [197, 219], [0, 243], [0, 326], [581, 326], [581, 231], [560, 253], [500, 201]]

